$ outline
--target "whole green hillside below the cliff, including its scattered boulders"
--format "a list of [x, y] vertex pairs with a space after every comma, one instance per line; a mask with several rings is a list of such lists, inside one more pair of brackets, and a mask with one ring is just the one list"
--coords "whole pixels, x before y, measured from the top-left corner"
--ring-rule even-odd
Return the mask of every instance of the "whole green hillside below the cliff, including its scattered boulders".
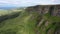
[[0, 22], [0, 34], [54, 34], [60, 29], [60, 17], [49, 13], [22, 10], [13, 14], [18, 16]]

